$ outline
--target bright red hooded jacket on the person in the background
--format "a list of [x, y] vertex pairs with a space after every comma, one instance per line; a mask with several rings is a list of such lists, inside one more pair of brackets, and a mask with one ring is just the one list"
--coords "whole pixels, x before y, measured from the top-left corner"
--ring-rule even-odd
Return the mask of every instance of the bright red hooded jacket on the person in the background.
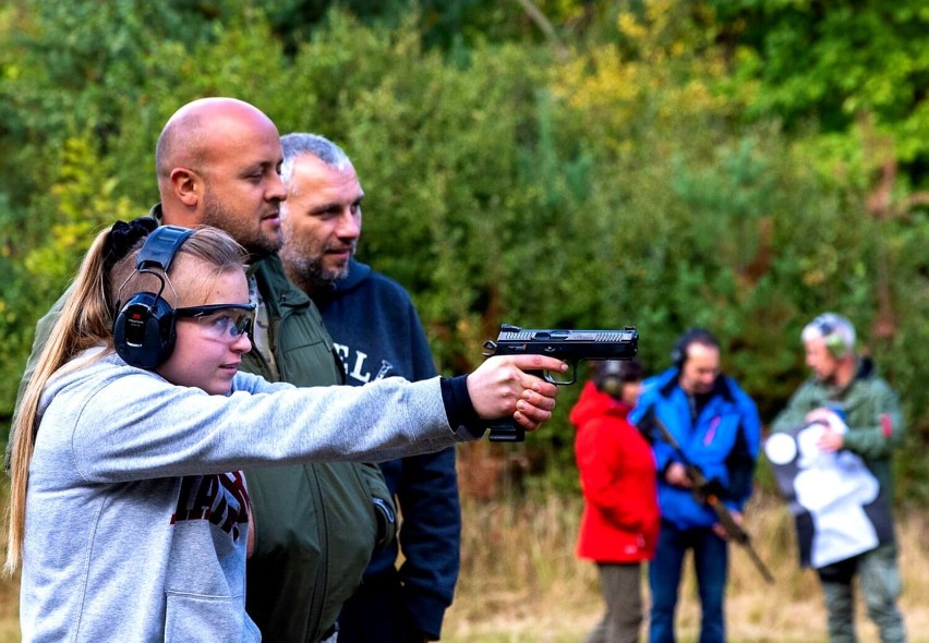
[[659, 534], [655, 461], [629, 424], [631, 407], [588, 383], [570, 420], [584, 508], [578, 556], [598, 562], [638, 562], [654, 556]]

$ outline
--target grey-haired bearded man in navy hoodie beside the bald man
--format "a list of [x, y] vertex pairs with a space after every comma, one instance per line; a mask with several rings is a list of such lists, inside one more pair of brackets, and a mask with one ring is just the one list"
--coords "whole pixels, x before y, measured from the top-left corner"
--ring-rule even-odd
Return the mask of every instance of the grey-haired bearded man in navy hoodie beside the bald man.
[[[288, 134], [281, 144], [288, 201], [281, 203], [280, 257], [290, 279], [319, 308], [347, 383], [435, 376], [407, 291], [353, 258], [364, 191], [348, 156], [316, 134]], [[342, 606], [339, 643], [438, 640], [459, 571], [455, 449], [389, 460], [381, 469], [402, 526], [397, 541], [374, 554], [361, 586]]]

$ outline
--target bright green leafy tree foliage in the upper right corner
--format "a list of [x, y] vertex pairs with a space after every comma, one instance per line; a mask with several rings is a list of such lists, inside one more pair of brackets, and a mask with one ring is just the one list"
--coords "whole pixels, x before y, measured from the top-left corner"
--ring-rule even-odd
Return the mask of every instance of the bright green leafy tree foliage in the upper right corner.
[[[821, 167], [850, 165], [867, 181], [867, 159], [848, 136], [860, 114], [889, 134], [914, 186], [929, 186], [929, 7], [900, 2], [714, 0], [719, 38], [734, 76], [757, 93], [747, 118], [776, 114], [789, 129], [815, 124], [805, 141]], [[857, 161], [857, 162], [855, 162]]]

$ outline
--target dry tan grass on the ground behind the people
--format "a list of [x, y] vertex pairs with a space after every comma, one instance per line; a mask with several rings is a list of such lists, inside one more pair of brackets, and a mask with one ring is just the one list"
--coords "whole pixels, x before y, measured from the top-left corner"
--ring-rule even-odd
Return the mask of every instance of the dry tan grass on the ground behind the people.
[[[5, 507], [5, 484], [0, 485]], [[538, 494], [536, 501], [463, 500], [461, 580], [448, 611], [447, 643], [580, 643], [600, 618], [594, 566], [575, 558], [578, 498]], [[748, 557], [732, 557], [727, 627], [732, 643], [824, 643], [824, 612], [815, 574], [794, 560], [793, 522], [774, 498], [756, 498], [748, 512], [755, 545], [777, 579], [764, 585]], [[929, 520], [898, 524], [904, 578], [901, 602], [910, 643], [929, 643]], [[692, 574], [679, 606], [680, 643], [695, 640], [699, 606]], [[0, 581], [0, 643], [20, 641], [19, 584]], [[864, 608], [859, 609], [864, 614]], [[859, 619], [861, 643], [877, 632]]]

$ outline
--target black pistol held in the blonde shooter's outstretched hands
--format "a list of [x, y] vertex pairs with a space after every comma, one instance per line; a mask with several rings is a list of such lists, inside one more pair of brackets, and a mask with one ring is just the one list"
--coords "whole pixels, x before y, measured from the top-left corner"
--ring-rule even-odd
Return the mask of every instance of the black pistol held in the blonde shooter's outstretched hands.
[[[526, 329], [503, 324], [496, 341], [485, 341], [485, 357], [491, 355], [548, 355], [567, 362], [572, 367], [570, 380], [554, 379], [551, 374], [535, 373], [547, 381], [567, 386], [578, 380], [578, 362], [581, 360], [631, 360], [639, 349], [639, 333], [631, 326], [623, 330], [553, 330]], [[522, 427], [511, 418], [491, 424], [488, 438], [495, 442], [521, 442], [526, 439]]]

